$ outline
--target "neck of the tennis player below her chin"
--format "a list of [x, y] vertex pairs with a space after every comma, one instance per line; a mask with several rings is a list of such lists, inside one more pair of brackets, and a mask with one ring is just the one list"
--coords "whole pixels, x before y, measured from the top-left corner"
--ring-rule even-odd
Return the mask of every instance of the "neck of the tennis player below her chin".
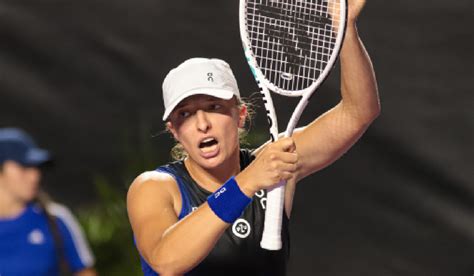
[[212, 169], [203, 168], [190, 158], [186, 158], [184, 164], [199, 186], [214, 192], [230, 177], [240, 172], [240, 151], [237, 150], [229, 159]]

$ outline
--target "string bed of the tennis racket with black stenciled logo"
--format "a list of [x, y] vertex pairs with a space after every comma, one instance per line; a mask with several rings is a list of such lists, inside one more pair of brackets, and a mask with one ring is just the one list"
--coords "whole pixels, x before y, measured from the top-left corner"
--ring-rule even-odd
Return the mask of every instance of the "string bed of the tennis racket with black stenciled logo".
[[284, 90], [309, 87], [336, 47], [339, 1], [248, 0], [246, 25], [265, 77]]

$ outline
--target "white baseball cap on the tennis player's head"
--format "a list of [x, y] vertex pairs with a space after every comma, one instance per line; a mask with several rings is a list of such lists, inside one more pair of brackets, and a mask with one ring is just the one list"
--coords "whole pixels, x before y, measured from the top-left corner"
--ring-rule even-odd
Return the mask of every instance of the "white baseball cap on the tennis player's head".
[[240, 99], [239, 87], [229, 64], [220, 59], [191, 58], [172, 69], [163, 81], [163, 121], [185, 98], [209, 95], [225, 100]]

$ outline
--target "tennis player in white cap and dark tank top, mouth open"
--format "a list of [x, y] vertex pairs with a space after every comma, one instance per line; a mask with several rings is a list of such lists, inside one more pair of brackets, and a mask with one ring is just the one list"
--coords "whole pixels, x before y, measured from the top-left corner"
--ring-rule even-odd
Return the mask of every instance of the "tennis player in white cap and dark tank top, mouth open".
[[[145, 172], [127, 195], [145, 275], [285, 275], [288, 218], [296, 183], [335, 161], [379, 114], [370, 59], [349, 0], [341, 51], [342, 100], [291, 138], [254, 151], [239, 146], [245, 104], [228, 65], [191, 59], [163, 83], [168, 130], [187, 157]], [[265, 192], [287, 180], [283, 250], [262, 250]]]

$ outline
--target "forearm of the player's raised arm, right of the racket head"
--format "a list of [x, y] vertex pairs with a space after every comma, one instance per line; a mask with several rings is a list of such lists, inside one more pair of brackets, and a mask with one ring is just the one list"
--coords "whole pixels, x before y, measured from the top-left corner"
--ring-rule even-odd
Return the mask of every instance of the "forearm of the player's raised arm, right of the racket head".
[[379, 114], [380, 102], [372, 62], [354, 22], [348, 23], [340, 58], [344, 110], [360, 123], [368, 124]]

